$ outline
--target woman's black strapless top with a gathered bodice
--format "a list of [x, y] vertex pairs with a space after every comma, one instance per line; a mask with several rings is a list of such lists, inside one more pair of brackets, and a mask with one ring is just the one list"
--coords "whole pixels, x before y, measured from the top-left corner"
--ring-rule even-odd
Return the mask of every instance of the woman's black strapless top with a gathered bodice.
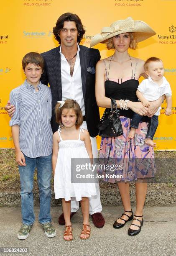
[[[136, 90], [138, 89], [139, 81], [135, 79], [129, 79], [125, 82], [118, 83], [112, 80], [105, 81], [105, 96], [108, 98], [113, 98], [115, 100], [130, 100], [133, 102], [138, 102], [138, 97], [136, 96]], [[120, 115], [132, 118], [133, 110], [130, 108], [128, 110], [120, 110]]]

